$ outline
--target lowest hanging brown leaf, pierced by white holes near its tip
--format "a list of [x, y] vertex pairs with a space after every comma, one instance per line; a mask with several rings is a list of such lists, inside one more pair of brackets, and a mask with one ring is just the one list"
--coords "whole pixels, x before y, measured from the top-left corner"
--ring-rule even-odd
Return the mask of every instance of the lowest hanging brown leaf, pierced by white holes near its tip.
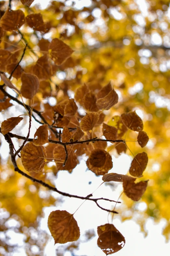
[[106, 255], [121, 250], [125, 245], [124, 236], [115, 228], [113, 224], [99, 226], [97, 228], [97, 232], [99, 234], [97, 245]]

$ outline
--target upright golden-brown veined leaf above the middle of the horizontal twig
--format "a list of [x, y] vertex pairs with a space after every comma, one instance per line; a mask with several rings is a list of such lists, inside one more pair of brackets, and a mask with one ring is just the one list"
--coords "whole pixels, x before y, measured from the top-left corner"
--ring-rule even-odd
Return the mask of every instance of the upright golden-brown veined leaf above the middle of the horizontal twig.
[[80, 128], [83, 131], [90, 131], [99, 120], [99, 114], [96, 112], [89, 112], [81, 119]]

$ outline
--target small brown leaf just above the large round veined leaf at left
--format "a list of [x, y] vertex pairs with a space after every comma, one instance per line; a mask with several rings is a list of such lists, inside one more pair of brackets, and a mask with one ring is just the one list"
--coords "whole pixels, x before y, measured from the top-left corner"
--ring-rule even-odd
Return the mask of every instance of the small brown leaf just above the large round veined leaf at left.
[[[41, 125], [35, 132], [34, 134], [34, 140], [33, 140], [33, 144], [35, 146], [42, 146], [45, 143], [49, 142], [49, 133], [48, 133], [48, 125]], [[37, 139], [35, 139], [35, 137], [38, 137]]]

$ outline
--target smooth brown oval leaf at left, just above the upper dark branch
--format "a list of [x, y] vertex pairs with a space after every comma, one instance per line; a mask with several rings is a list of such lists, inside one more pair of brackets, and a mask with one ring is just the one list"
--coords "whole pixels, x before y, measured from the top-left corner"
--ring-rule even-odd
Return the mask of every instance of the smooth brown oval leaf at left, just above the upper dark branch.
[[30, 73], [22, 73], [21, 76], [21, 94], [27, 99], [32, 99], [39, 89], [39, 79]]

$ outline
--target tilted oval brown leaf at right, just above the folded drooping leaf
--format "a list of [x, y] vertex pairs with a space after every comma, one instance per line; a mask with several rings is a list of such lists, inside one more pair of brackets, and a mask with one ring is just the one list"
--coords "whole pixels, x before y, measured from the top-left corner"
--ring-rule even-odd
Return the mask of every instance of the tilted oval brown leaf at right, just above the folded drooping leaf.
[[131, 162], [129, 173], [132, 176], [140, 177], [146, 169], [148, 163], [148, 155], [146, 152], [138, 153]]

